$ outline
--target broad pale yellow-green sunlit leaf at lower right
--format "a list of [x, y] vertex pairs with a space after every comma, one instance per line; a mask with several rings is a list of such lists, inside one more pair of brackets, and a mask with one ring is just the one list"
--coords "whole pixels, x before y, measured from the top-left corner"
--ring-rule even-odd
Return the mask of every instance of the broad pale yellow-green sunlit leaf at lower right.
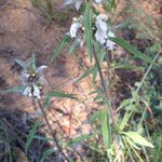
[[122, 134], [130, 137], [135, 144], [137, 144], [139, 146], [154, 148], [154, 146], [151, 143], [149, 143], [146, 138], [144, 138], [137, 132], [130, 131], [130, 132], [122, 132]]

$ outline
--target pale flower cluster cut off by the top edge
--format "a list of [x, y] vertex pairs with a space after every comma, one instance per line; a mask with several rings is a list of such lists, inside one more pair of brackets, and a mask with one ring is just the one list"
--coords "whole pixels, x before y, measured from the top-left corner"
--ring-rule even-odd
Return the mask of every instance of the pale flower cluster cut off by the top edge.
[[[102, 3], [102, 0], [93, 0], [95, 3]], [[81, 4], [84, 2], [84, 0], [65, 0], [64, 5], [71, 5], [73, 4], [76, 10], [79, 11]]]

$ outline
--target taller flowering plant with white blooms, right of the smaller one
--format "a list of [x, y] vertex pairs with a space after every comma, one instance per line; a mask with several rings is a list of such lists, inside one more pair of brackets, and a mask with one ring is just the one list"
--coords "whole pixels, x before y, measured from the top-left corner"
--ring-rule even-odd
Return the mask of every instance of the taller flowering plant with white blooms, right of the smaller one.
[[[80, 6], [83, 4], [83, 2], [85, 2], [85, 5], [83, 5], [85, 8], [80, 10]], [[153, 145], [147, 141], [147, 139], [137, 132], [125, 132], [124, 127], [126, 124], [129, 124], [129, 120], [133, 116], [133, 110], [126, 110], [124, 116], [121, 116], [120, 112], [116, 112], [117, 108], [111, 93], [111, 86], [116, 80], [111, 78], [111, 73], [116, 72], [114, 64], [117, 62], [114, 60], [116, 57], [113, 56], [112, 51], [114, 51], [117, 43], [133, 54], [136, 58], [147, 63], [152, 62], [150, 60], [150, 57], [139, 52], [124, 40], [116, 38], [114, 30], [122, 28], [122, 23], [114, 28], [112, 27], [111, 23], [113, 19], [110, 16], [111, 13], [105, 9], [107, 5], [103, 5], [104, 12], [96, 10], [96, 5], [99, 5], [104, 2], [105, 1], [102, 0], [66, 0], [65, 5], [75, 4], [78, 12], [83, 11], [79, 17], [72, 18], [68, 36], [70, 39], [75, 40], [73, 44], [71, 45], [72, 48], [77, 48], [78, 44], [82, 48], [83, 44], [86, 43], [90, 60], [92, 63], [92, 59], [94, 58], [95, 65], [92, 64], [91, 68], [86, 69], [78, 80], [81, 80], [89, 75], [93, 75], [93, 80], [95, 81], [96, 76], [99, 76], [102, 85], [99, 85], [95, 93], [97, 94], [97, 97], [103, 99], [104, 107], [106, 109], [104, 109], [104, 113], [103, 111], [100, 112], [100, 116], [103, 118], [102, 135], [106, 147], [107, 160], [120, 162], [123, 159], [126, 159], [126, 153], [123, 151], [123, 149], [127, 147], [125, 143], [129, 143], [134, 150], [137, 149], [136, 145], [150, 148], [153, 148]], [[118, 2], [118, 0], [112, 0], [105, 3], [108, 5], [110, 4], [111, 9], [113, 6], [116, 9]], [[60, 51], [60, 46], [64, 46], [67, 40], [68, 39], [64, 39], [60, 45], [56, 48], [54, 52], [55, 55]], [[103, 64], [103, 62], [106, 62], [106, 64]], [[129, 66], [120, 65], [119, 67], [127, 68]], [[132, 67], [132, 65], [130, 67]], [[138, 89], [133, 93], [138, 93], [140, 87], [141, 86], [138, 86]], [[129, 99], [129, 108], [132, 108], [133, 103], [136, 103], [135, 97], [133, 96], [132, 99]], [[143, 140], [143, 143], [139, 144], [137, 138], [140, 141]], [[130, 144], [130, 139], [132, 144]]]

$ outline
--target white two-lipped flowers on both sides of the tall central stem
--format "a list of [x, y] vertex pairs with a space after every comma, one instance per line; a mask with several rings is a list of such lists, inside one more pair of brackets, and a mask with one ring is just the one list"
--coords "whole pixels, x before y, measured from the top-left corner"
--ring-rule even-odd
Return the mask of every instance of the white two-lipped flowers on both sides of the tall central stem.
[[[104, 46], [107, 50], [113, 51], [116, 43], [112, 42], [109, 38], [114, 38], [114, 33], [111, 31], [110, 27], [107, 24], [108, 17], [105, 14], [99, 14], [95, 16], [93, 19], [94, 26], [93, 28], [93, 35], [96, 39], [96, 41]], [[79, 30], [81, 32], [79, 32]], [[84, 43], [84, 25], [83, 25], [83, 17], [80, 16], [79, 18], [73, 18], [73, 22], [70, 27], [69, 32], [71, 39], [76, 39], [76, 41], [80, 44], [80, 46]]]

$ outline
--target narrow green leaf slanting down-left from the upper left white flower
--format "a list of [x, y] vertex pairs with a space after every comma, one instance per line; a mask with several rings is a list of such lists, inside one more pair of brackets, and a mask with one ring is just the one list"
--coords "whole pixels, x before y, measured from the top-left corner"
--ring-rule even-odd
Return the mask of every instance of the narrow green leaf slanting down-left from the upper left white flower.
[[66, 43], [69, 40], [69, 36], [66, 35], [62, 42], [56, 46], [56, 49], [54, 50], [54, 52], [52, 53], [52, 60], [55, 59], [57, 57], [57, 55], [59, 54], [60, 50], [66, 45]]

